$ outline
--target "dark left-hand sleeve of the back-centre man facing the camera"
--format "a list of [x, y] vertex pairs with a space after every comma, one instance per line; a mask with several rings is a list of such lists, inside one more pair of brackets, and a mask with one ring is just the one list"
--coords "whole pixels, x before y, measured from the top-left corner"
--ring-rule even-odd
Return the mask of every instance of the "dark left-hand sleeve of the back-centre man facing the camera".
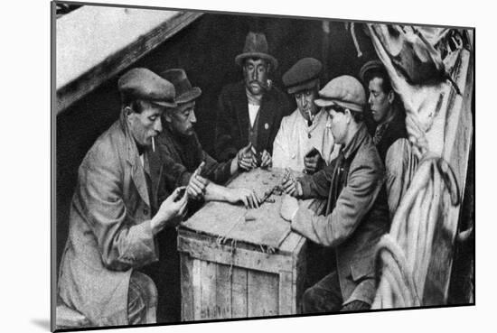
[[223, 90], [218, 101], [218, 110], [216, 116], [216, 141], [214, 150], [218, 161], [228, 161], [238, 153], [234, 145], [234, 134], [238, 128], [237, 120], [230, 112], [230, 99], [227, 97], [226, 91]]

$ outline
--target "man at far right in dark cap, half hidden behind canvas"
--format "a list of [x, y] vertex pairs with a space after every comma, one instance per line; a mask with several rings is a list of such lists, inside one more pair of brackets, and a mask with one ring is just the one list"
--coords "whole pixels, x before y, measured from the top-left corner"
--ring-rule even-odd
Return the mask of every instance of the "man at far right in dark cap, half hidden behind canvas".
[[383, 64], [380, 60], [366, 62], [360, 76], [370, 92], [370, 112], [376, 123], [373, 143], [385, 164], [389, 214], [393, 218], [414, 176], [417, 158], [408, 142], [405, 111]]

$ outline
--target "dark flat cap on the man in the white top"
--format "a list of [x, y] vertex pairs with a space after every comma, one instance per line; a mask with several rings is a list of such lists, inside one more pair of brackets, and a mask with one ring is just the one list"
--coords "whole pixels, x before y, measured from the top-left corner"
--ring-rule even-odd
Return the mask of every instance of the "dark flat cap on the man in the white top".
[[283, 74], [283, 84], [288, 94], [316, 87], [319, 84], [321, 69], [323, 69], [323, 64], [317, 59], [298, 60], [292, 68]]

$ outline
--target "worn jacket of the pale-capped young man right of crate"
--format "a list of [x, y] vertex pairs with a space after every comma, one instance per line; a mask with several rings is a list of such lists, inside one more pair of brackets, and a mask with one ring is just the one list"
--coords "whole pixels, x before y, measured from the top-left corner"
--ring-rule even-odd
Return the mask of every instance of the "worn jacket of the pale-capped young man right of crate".
[[317, 244], [333, 246], [343, 304], [375, 294], [374, 254], [380, 236], [389, 230], [383, 188], [384, 167], [365, 125], [341, 156], [313, 176], [299, 180], [304, 198], [327, 198], [325, 216], [299, 208], [292, 228]]

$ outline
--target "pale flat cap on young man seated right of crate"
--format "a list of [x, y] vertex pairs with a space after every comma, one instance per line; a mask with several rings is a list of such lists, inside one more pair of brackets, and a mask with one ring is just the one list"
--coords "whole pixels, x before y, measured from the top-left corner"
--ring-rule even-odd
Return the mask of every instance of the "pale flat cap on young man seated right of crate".
[[362, 112], [366, 104], [366, 93], [361, 82], [350, 75], [332, 79], [319, 91], [319, 97], [314, 103], [321, 107], [337, 105]]

